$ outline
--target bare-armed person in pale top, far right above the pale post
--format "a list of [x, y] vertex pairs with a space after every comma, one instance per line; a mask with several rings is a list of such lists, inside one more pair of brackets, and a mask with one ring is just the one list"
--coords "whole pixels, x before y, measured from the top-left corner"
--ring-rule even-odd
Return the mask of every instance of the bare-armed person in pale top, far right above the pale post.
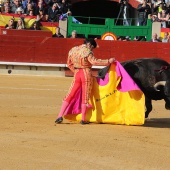
[[161, 22], [162, 28], [167, 28], [168, 20], [169, 20], [169, 14], [166, 13], [166, 10], [163, 8], [161, 12], [158, 13], [158, 19]]

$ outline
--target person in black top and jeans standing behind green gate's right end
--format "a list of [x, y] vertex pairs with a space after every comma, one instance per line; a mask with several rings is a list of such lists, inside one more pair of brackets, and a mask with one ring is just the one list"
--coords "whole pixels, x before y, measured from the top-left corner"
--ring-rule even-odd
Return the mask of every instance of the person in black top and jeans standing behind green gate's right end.
[[151, 8], [147, 4], [147, 0], [143, 0], [143, 3], [137, 7], [139, 26], [147, 25], [148, 15], [151, 14]]

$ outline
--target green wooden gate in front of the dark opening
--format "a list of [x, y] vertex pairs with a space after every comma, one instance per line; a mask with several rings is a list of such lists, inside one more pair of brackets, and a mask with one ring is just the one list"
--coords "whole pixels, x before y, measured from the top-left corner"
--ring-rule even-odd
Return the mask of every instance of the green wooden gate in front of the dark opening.
[[[94, 17], [76, 17], [76, 19], [83, 20], [83, 24], [76, 24], [72, 22], [72, 17], [68, 18], [68, 29], [67, 37], [71, 36], [71, 32], [76, 30], [78, 34], [84, 35], [89, 38], [90, 36], [102, 36], [107, 32], [111, 32], [118, 36], [128, 36], [131, 40], [136, 36], [145, 36], [146, 40], [149, 41], [152, 36], [152, 22], [150, 19], [147, 20], [146, 26], [122, 26], [116, 25], [116, 19], [112, 18], [94, 18]], [[94, 24], [93, 22], [100, 20], [101, 24]]]

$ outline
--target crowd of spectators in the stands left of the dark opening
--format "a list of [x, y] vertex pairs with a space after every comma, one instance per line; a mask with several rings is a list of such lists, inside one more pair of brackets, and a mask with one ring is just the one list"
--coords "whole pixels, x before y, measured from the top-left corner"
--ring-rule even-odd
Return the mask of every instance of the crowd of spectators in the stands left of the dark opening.
[[[70, 0], [1, 0], [0, 13], [17, 14], [23, 21], [24, 17], [36, 18], [30, 29], [40, 29], [40, 22], [58, 22], [60, 16], [65, 18], [71, 13]], [[14, 20], [13, 20], [14, 21]], [[17, 26], [12, 19], [5, 26], [8, 29], [25, 29], [25, 26]]]

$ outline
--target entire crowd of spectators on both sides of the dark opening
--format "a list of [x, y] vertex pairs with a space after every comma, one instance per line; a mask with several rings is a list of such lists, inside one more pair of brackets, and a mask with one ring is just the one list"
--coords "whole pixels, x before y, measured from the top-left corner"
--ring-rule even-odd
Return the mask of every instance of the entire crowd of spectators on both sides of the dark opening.
[[[122, 16], [125, 26], [129, 26], [130, 11], [128, 0], [120, 0]], [[147, 19], [152, 22], [160, 22], [162, 28], [170, 27], [170, 0], [141, 0], [138, 5], [138, 25], [145, 26]], [[15, 22], [14, 18], [6, 24], [6, 29], [26, 29], [24, 25], [24, 16], [33, 16], [36, 21], [30, 26], [31, 30], [41, 30], [41, 22], [58, 22], [67, 19], [72, 15], [71, 0], [1, 0], [0, 12], [2, 14], [18, 14], [20, 19]], [[72, 17], [74, 23], [81, 24], [76, 18]], [[168, 33], [166, 33], [169, 37]], [[60, 28], [56, 28], [53, 37], [63, 38]], [[78, 38], [76, 30], [73, 30], [71, 38]], [[143, 37], [137, 37], [135, 40], [141, 40]], [[154, 39], [154, 38], [152, 38]], [[168, 42], [169, 42], [169, 38]], [[129, 37], [119, 37], [118, 40], [128, 41]], [[164, 40], [160, 40], [165, 42]], [[155, 42], [155, 41], [154, 41]]]

